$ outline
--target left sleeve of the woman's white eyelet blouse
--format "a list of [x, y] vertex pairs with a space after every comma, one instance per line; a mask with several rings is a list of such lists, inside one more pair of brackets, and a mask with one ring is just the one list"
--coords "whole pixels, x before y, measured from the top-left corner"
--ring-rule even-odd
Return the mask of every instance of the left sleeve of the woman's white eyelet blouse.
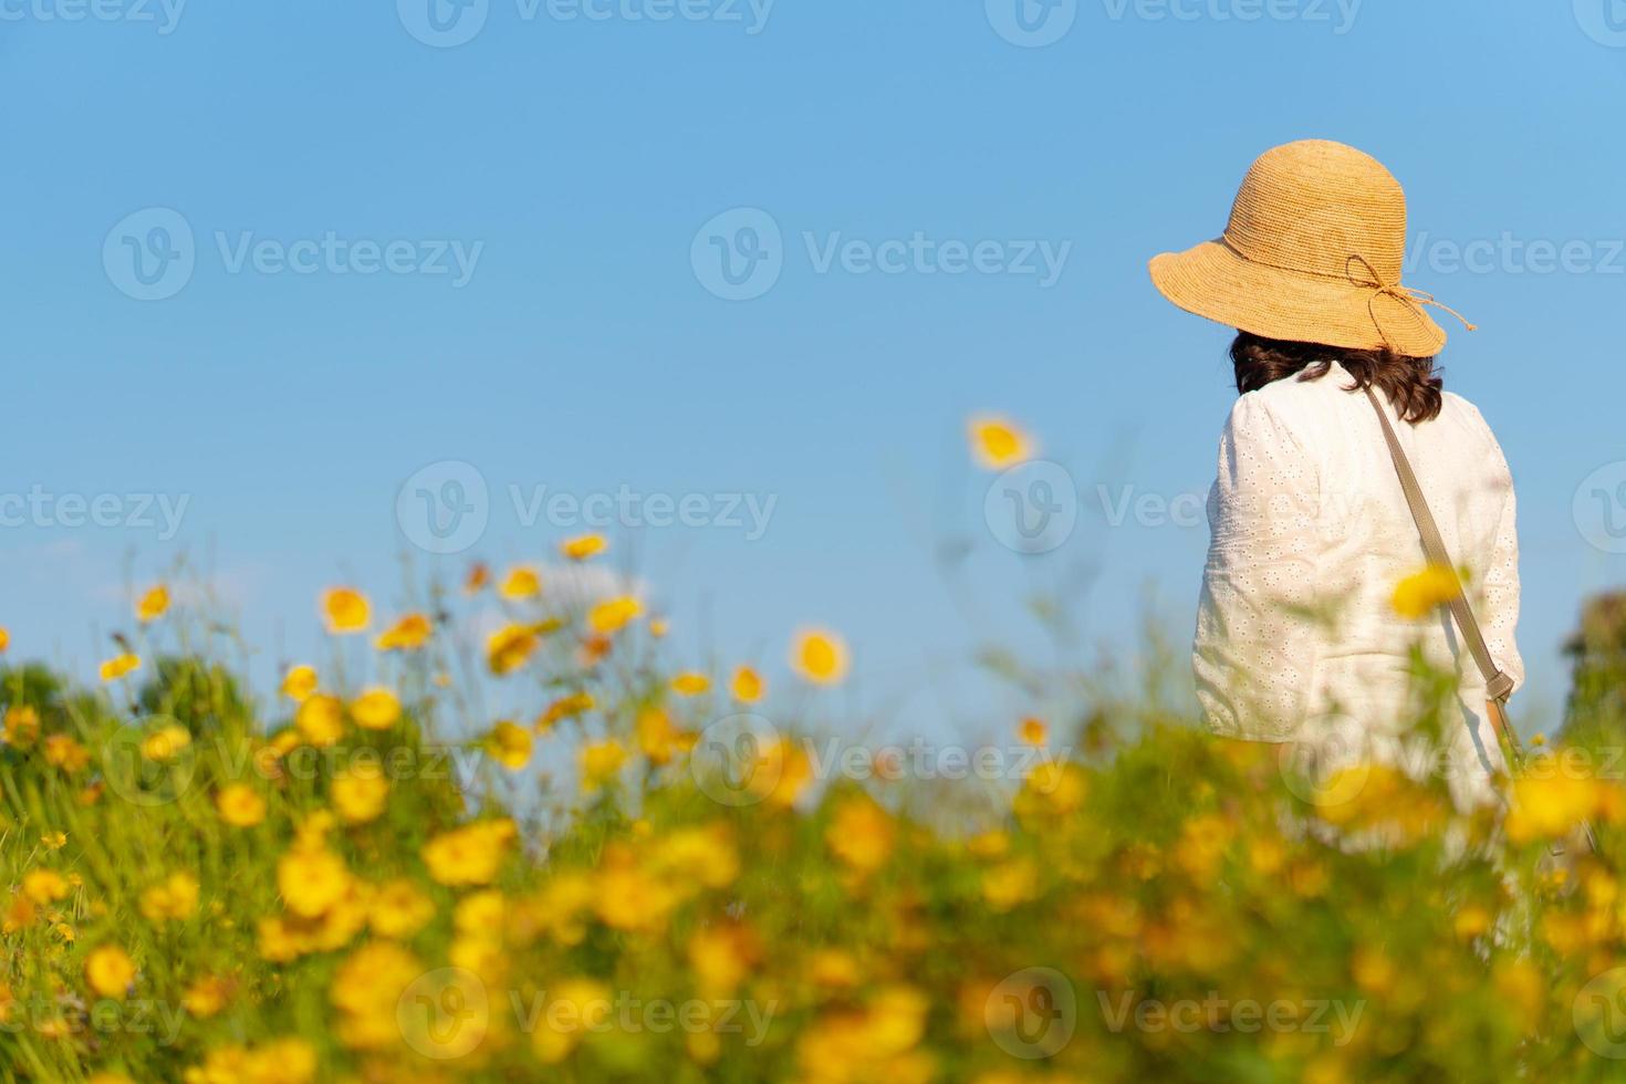
[[1319, 507], [1315, 462], [1257, 395], [1239, 398], [1208, 494], [1213, 538], [1192, 648], [1197, 699], [1216, 735], [1286, 741], [1304, 718]]

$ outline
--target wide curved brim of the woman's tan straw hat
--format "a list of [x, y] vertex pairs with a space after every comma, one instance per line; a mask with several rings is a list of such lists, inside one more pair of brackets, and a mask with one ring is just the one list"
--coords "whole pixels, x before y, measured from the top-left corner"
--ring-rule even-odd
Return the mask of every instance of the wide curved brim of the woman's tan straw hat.
[[1348, 349], [1389, 346], [1411, 358], [1433, 358], [1446, 346], [1439, 323], [1392, 294], [1254, 263], [1223, 239], [1164, 252], [1151, 258], [1150, 270], [1158, 293], [1180, 309], [1265, 338]]

